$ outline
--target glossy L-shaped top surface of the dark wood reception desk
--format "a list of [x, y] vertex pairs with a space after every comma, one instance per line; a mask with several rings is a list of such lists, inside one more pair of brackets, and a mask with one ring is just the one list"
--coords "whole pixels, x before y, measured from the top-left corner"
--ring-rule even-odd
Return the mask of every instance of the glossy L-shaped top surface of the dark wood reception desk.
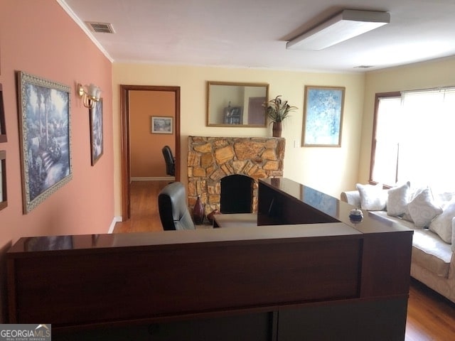
[[[148, 245], [176, 245], [208, 242], [251, 242], [258, 239], [287, 239], [306, 237], [342, 236], [346, 234], [368, 234], [408, 231], [390, 220], [363, 212], [361, 222], [349, 219], [354, 207], [346, 202], [321, 193], [308, 186], [287, 178], [259, 180], [285, 197], [301, 202], [312, 210], [322, 212], [332, 222], [312, 224], [275, 224], [252, 228], [257, 218], [253, 215], [239, 215], [230, 222], [229, 229], [196, 229], [185, 231], [139, 232], [128, 234], [85, 234], [71, 236], [23, 237], [16, 242], [9, 254], [36, 251], [112, 249], [117, 247], [146, 247]], [[297, 212], [300, 214], [301, 212]], [[232, 220], [237, 215], [220, 215], [219, 220]], [[225, 217], [227, 219], [225, 219]], [[228, 218], [229, 217], [229, 218]], [[234, 227], [234, 225], [236, 225]], [[245, 229], [248, 227], [248, 229]], [[277, 228], [279, 227], [279, 228]]]

